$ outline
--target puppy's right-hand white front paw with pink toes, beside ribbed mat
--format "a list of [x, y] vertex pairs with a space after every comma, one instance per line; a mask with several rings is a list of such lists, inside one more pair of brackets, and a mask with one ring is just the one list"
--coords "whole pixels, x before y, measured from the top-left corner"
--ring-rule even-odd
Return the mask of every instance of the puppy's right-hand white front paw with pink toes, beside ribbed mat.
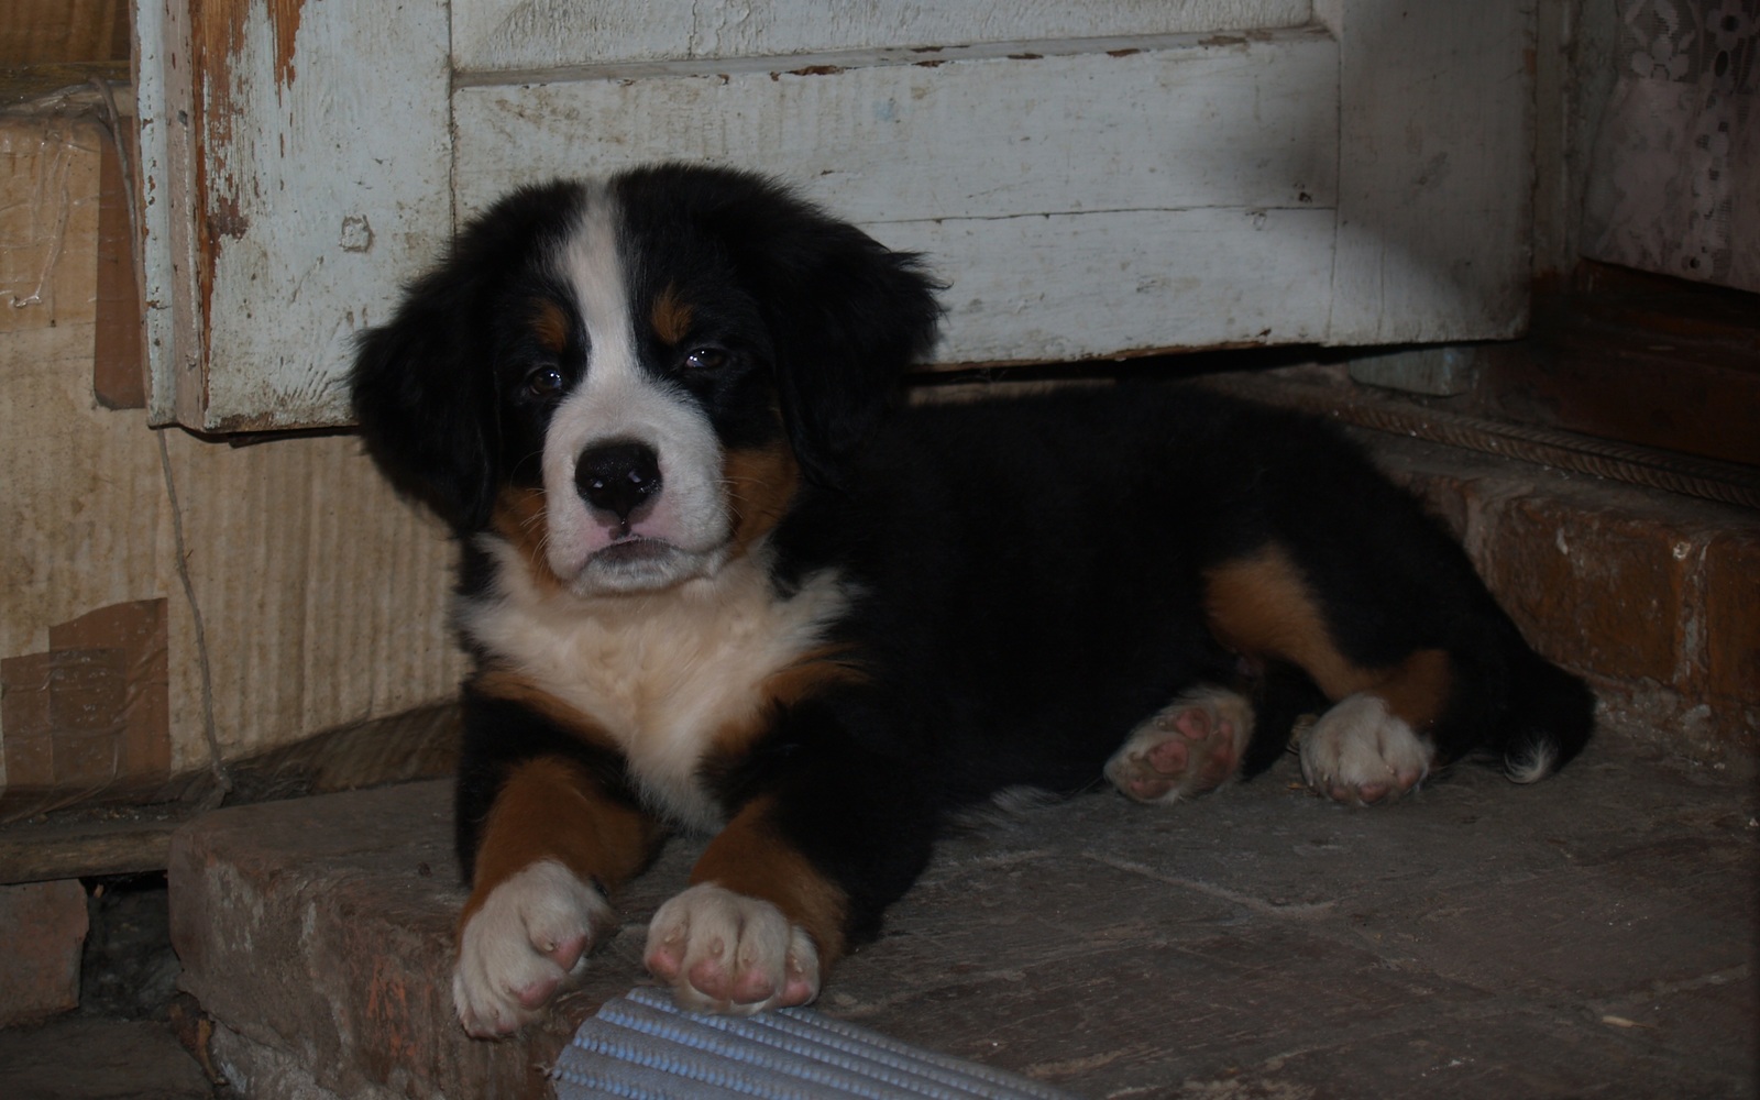
[[780, 908], [715, 884], [693, 885], [648, 924], [648, 970], [697, 1012], [750, 1016], [818, 996], [818, 949]]

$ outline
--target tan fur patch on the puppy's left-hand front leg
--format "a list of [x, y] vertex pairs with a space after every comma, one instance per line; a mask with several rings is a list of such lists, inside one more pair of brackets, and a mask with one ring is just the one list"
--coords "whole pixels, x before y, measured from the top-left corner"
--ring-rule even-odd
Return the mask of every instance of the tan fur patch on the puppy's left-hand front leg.
[[653, 818], [607, 797], [579, 764], [561, 757], [526, 760], [495, 796], [458, 926], [465, 928], [496, 885], [540, 859], [614, 891], [648, 864], [658, 840]]

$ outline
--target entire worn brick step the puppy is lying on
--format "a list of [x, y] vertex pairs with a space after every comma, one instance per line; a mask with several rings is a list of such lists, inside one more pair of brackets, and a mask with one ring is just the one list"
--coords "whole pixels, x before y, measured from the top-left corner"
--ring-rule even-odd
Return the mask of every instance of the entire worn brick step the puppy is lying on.
[[[1172, 808], [1089, 794], [957, 836], [818, 1008], [1086, 1096], [1751, 1095], [1746, 787], [1617, 739], [1535, 787], [1461, 767], [1362, 811], [1295, 778], [1285, 760]], [[239, 1095], [544, 1096], [574, 1024], [641, 980], [692, 845], [618, 899], [558, 1019], [466, 1038], [447, 803], [444, 783], [317, 796], [178, 834], [183, 986]]]

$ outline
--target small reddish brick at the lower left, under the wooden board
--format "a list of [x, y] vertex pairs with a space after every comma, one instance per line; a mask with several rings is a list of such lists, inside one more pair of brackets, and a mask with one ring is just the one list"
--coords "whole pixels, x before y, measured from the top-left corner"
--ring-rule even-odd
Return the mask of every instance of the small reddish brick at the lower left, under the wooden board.
[[0, 887], [0, 1026], [79, 1007], [86, 891], [74, 880]]

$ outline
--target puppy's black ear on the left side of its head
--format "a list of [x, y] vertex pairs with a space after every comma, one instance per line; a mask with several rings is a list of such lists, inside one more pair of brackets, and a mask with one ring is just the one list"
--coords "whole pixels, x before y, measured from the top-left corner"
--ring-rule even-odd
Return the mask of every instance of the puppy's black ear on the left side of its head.
[[348, 375], [366, 452], [401, 493], [454, 532], [484, 526], [495, 496], [495, 377], [461, 319], [480, 313], [473, 280], [442, 266], [368, 329]]

